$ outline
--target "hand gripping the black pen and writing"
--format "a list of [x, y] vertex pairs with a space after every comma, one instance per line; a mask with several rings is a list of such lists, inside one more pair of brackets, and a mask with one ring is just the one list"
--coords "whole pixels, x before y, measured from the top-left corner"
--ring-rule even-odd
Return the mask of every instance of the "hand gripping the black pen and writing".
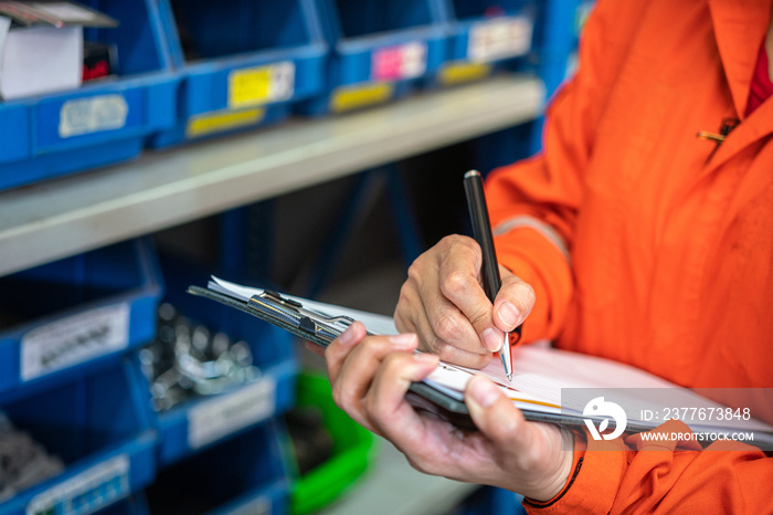
[[534, 305], [534, 291], [504, 266], [494, 305], [480, 285], [480, 248], [472, 238], [451, 235], [420, 255], [407, 273], [394, 311], [401, 333], [415, 333], [423, 350], [444, 361], [483, 368], [521, 325]]

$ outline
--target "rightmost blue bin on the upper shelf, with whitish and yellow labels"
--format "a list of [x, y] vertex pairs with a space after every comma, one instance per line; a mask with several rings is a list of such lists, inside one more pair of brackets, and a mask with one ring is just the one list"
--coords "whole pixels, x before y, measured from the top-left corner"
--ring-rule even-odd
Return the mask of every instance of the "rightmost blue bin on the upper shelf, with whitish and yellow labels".
[[537, 4], [533, 0], [447, 0], [453, 21], [442, 85], [485, 78], [504, 63], [532, 51]]

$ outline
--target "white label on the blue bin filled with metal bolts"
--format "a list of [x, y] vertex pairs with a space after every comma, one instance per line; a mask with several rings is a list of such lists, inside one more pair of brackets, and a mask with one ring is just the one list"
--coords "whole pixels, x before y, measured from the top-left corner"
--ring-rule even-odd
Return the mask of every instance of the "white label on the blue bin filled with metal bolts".
[[265, 420], [276, 410], [276, 379], [267, 376], [188, 411], [188, 444], [198, 449]]

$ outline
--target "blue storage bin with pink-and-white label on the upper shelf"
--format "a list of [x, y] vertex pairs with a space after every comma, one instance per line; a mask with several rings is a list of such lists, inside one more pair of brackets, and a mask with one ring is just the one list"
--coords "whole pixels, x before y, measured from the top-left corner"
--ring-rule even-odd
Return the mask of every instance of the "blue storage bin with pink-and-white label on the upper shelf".
[[389, 102], [432, 76], [445, 60], [449, 27], [437, 0], [315, 0], [331, 55], [324, 95], [305, 114]]

